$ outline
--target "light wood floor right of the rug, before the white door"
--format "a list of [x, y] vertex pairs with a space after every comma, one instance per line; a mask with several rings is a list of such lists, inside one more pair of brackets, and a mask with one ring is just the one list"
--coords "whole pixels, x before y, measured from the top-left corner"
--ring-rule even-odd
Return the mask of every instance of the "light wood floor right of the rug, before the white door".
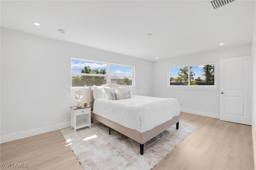
[[251, 126], [189, 113], [181, 121], [199, 127], [153, 170], [254, 170]]

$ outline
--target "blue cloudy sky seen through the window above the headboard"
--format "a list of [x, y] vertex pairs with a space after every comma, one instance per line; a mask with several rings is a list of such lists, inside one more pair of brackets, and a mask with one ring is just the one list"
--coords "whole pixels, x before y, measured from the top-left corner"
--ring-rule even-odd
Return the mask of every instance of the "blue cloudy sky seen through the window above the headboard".
[[[90, 66], [91, 69], [106, 69], [107, 65], [96, 62], [88, 62], [88, 61], [79, 61], [79, 60], [71, 60], [71, 71], [72, 73], [81, 73], [81, 70], [84, 69], [85, 66]], [[110, 65], [110, 74], [111, 75], [122, 75], [122, 76], [132, 76], [132, 67], [120, 66], [120, 65]]]

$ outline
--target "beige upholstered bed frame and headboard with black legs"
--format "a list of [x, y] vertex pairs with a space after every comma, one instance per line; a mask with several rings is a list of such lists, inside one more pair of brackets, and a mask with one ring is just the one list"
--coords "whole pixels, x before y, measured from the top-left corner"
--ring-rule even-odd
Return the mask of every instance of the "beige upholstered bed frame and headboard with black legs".
[[[117, 85], [117, 84], [106, 84], [106, 85], [101, 85], [101, 86], [102, 87], [124, 87], [123, 85]], [[176, 129], [179, 128], [180, 116], [175, 116], [170, 121], [167, 121], [166, 123], [163, 123], [162, 125], [154, 127], [152, 130], [148, 130], [146, 132], [139, 132], [137, 130], [133, 130], [133, 129], [124, 127], [116, 122], [113, 122], [109, 119], [106, 119], [100, 115], [96, 115], [95, 113], [93, 113], [94, 98], [93, 98], [93, 87], [92, 86], [89, 87], [89, 101], [90, 101], [90, 105], [91, 105], [91, 123], [93, 123], [93, 119], [96, 119], [97, 121], [99, 121], [109, 127], [109, 134], [110, 134], [110, 129], [112, 128], [112, 129], [124, 134], [125, 136], [139, 142], [141, 155], [143, 155], [145, 142], [154, 138], [156, 135], [162, 133], [164, 130], [171, 127], [172, 125], [176, 124]]]

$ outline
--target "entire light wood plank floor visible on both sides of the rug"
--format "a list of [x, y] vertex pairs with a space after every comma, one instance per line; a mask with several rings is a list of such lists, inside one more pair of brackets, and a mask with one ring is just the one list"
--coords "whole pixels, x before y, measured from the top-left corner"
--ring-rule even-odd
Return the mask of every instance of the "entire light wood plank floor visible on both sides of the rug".
[[[198, 125], [153, 170], [253, 170], [252, 127], [180, 113]], [[26, 170], [82, 170], [59, 130], [0, 144], [2, 163], [27, 163]], [[139, 146], [138, 146], [139, 147]]]

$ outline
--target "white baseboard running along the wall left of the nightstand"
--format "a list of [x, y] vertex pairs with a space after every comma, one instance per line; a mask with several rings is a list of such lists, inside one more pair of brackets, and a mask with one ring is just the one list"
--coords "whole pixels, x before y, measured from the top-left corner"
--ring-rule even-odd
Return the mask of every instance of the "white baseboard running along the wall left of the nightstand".
[[22, 138], [26, 138], [29, 136], [34, 136], [37, 134], [51, 132], [54, 130], [59, 130], [62, 128], [67, 128], [67, 127], [70, 127], [70, 122], [60, 123], [60, 124], [52, 125], [52, 126], [48, 126], [48, 127], [36, 128], [36, 129], [32, 129], [32, 130], [26, 130], [23, 132], [17, 132], [17, 133], [13, 133], [13, 134], [7, 134], [7, 135], [0, 136], [0, 143], [10, 142], [13, 140], [22, 139]]

